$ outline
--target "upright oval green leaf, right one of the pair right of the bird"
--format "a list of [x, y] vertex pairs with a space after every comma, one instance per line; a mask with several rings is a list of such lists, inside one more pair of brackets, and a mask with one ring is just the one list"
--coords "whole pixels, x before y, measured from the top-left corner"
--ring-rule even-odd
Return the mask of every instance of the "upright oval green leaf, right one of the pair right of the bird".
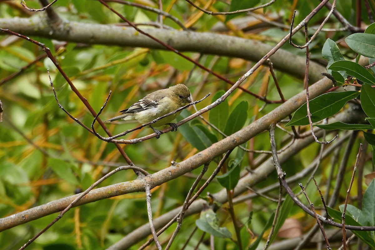
[[228, 122], [226, 123], [224, 133], [225, 135], [231, 135], [238, 130], [242, 129], [245, 125], [246, 119], [248, 118], [249, 104], [247, 101], [242, 101], [233, 109], [229, 115]]

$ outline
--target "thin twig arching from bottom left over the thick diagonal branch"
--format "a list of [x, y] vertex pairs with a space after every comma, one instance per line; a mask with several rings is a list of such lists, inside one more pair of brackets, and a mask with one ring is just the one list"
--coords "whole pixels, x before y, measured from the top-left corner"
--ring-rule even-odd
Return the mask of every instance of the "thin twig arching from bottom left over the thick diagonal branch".
[[133, 170], [136, 170], [138, 172], [141, 172], [143, 173], [144, 175], [148, 175], [148, 172], [141, 169], [141, 168], [138, 168], [136, 166], [120, 166], [114, 170], [112, 170], [111, 172], [109, 172], [108, 174], [104, 175], [102, 178], [100, 178], [98, 181], [96, 181], [94, 184], [92, 184], [88, 189], [85, 190], [85, 192], [81, 193], [79, 196], [77, 196], [77, 198], [74, 199], [74, 201], [71, 202], [71, 204], [69, 204], [68, 207], [66, 207], [63, 211], [60, 212], [60, 214], [51, 222], [49, 223], [45, 228], [43, 228], [39, 233], [37, 233], [33, 238], [31, 238], [30, 240], [27, 241], [26, 244], [24, 244], [19, 250], [23, 250], [25, 249], [28, 245], [30, 245], [34, 240], [36, 240], [36, 238], [38, 238], [40, 235], [42, 235], [45, 231], [47, 231], [52, 225], [54, 225], [58, 220], [60, 220], [63, 215], [69, 211], [69, 209], [71, 209], [74, 204], [76, 204], [83, 196], [87, 195], [91, 190], [93, 190], [96, 186], [98, 186], [102, 181], [106, 180], [108, 177], [110, 177], [111, 175], [121, 171], [121, 170], [126, 170], [126, 169], [133, 169]]

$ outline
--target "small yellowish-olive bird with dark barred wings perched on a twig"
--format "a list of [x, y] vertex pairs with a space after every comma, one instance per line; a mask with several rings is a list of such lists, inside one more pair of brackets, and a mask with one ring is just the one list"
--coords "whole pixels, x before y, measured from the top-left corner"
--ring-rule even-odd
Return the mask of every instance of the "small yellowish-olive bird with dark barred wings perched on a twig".
[[[190, 91], [184, 84], [177, 84], [169, 88], [156, 90], [134, 103], [130, 108], [119, 111], [122, 113], [121, 115], [107, 121], [136, 120], [141, 124], [145, 124], [190, 103], [190, 96]], [[152, 125], [160, 127], [169, 124], [173, 128], [172, 131], [177, 131], [176, 124], [169, 122], [176, 118], [180, 112], [164, 117]], [[160, 138], [161, 131], [151, 125], [149, 127], [157, 134], [156, 139]]]

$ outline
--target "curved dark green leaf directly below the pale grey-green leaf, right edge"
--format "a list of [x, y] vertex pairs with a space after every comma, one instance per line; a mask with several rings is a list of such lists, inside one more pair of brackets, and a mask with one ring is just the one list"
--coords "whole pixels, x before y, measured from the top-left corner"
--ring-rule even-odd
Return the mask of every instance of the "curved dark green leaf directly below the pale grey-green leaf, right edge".
[[375, 84], [375, 77], [371, 73], [354, 61], [335, 61], [329, 69], [333, 71], [342, 71], [344, 70], [348, 75], [356, 77], [360, 81]]

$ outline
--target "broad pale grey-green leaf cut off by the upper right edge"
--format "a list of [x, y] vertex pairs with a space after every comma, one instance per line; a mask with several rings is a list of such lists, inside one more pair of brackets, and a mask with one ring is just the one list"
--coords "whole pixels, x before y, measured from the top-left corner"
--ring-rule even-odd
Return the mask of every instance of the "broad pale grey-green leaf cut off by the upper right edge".
[[375, 34], [355, 33], [345, 38], [347, 45], [360, 55], [375, 57]]

